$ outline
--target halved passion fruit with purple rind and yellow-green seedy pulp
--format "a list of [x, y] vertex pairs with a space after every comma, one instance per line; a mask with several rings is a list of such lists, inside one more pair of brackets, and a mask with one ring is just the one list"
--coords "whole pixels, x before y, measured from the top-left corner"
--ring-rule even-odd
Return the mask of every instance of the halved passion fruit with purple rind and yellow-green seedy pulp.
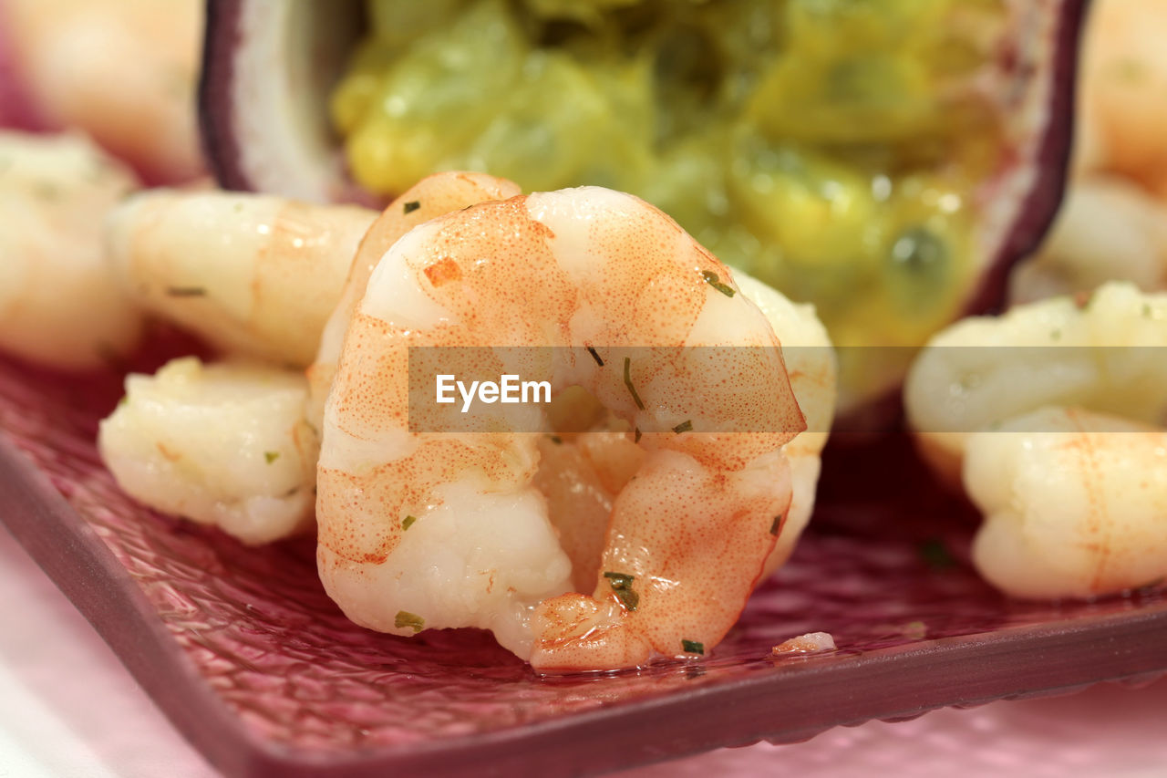
[[1048, 228], [1084, 6], [210, 0], [202, 127], [228, 188], [377, 202], [463, 168], [638, 194], [815, 303], [854, 407]]

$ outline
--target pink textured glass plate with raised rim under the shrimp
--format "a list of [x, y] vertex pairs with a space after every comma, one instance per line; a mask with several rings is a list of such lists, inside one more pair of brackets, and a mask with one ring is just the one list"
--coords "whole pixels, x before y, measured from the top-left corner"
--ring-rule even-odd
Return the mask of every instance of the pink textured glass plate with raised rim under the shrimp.
[[[484, 633], [350, 624], [310, 543], [245, 549], [127, 500], [93, 446], [119, 394], [113, 369], [76, 380], [0, 361], [0, 510], [228, 774], [601, 772], [1167, 671], [1161, 589], [1000, 598], [967, 567], [967, 508], [890, 440], [832, 452], [813, 530], [710, 657], [539, 679]], [[771, 655], [810, 631], [838, 651]]]

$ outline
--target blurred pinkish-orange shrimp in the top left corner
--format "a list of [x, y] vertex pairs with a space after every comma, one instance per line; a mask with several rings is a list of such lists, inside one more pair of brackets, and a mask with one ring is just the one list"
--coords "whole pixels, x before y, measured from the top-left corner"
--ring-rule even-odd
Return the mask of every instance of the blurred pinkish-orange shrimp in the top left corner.
[[0, 13], [49, 124], [84, 130], [155, 181], [202, 172], [200, 0], [5, 0]]

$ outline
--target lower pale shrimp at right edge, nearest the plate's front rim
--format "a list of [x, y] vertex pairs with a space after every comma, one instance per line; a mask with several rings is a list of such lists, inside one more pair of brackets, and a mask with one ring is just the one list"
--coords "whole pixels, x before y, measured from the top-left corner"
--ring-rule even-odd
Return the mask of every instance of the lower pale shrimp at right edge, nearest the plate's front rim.
[[969, 437], [973, 563], [1014, 597], [1092, 597], [1167, 576], [1167, 432], [1046, 408]]

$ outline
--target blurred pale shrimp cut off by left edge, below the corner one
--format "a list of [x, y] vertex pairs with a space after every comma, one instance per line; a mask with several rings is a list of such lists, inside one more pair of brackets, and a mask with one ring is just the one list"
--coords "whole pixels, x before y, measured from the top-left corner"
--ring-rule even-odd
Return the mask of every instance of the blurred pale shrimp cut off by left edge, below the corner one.
[[142, 315], [105, 264], [102, 222], [137, 186], [82, 136], [0, 132], [0, 348], [67, 369], [133, 349]]

